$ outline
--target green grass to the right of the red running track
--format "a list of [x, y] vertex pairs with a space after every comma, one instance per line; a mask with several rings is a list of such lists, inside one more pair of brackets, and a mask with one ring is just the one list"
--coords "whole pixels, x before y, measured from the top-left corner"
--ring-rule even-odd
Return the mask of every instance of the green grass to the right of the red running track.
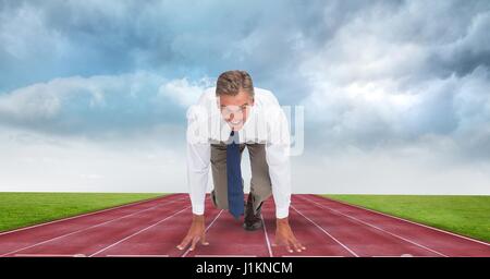
[[490, 196], [324, 196], [490, 242]]

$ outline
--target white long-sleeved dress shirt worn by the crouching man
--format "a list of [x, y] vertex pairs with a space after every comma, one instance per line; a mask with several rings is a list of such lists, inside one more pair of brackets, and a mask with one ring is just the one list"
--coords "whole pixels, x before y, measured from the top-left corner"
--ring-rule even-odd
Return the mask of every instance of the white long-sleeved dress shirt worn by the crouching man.
[[[240, 143], [266, 145], [275, 217], [285, 218], [291, 203], [290, 130], [284, 111], [269, 90], [254, 87], [255, 97]], [[231, 128], [219, 109], [216, 87], [206, 89], [187, 110], [187, 182], [193, 213], [203, 215], [209, 175], [211, 143], [226, 142]]]

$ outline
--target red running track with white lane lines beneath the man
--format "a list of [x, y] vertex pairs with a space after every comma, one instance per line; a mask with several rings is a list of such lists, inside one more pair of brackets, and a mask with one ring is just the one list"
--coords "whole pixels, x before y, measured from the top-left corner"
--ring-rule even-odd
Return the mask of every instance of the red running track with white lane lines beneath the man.
[[273, 201], [265, 228], [248, 232], [225, 210], [206, 204], [207, 240], [179, 251], [191, 204], [186, 194], [134, 203], [0, 233], [0, 256], [486, 256], [490, 243], [315, 195], [293, 195], [290, 223], [307, 246], [290, 254], [274, 239]]

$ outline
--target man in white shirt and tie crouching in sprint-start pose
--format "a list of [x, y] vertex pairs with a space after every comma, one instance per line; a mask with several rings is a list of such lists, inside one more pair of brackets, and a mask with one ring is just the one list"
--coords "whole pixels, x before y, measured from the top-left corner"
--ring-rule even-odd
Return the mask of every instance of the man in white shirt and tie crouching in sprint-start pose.
[[[305, 247], [289, 225], [291, 199], [290, 133], [287, 120], [271, 92], [254, 88], [245, 71], [228, 71], [217, 86], [201, 95], [187, 113], [187, 177], [193, 208], [193, 222], [183, 250], [205, 235], [205, 197], [209, 165], [212, 169], [212, 204], [229, 209], [235, 218], [245, 215], [243, 228], [261, 229], [261, 206], [273, 195], [275, 202], [275, 244], [289, 252]], [[252, 167], [250, 193], [244, 205], [241, 155], [248, 148]]]

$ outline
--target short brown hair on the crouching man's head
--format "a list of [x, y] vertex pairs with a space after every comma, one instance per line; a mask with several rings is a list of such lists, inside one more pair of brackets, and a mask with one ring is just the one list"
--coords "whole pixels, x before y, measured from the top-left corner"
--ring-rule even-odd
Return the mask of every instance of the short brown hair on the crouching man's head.
[[217, 96], [222, 94], [235, 96], [240, 90], [245, 90], [254, 97], [254, 84], [247, 72], [234, 70], [220, 74], [216, 83]]

